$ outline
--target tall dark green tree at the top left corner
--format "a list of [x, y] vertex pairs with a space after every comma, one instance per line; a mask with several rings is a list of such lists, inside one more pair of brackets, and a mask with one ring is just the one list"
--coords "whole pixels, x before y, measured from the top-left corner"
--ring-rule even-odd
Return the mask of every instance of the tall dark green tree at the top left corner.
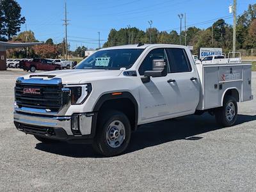
[[20, 31], [20, 25], [25, 23], [25, 17], [20, 15], [20, 5], [14, 0], [0, 1], [0, 10], [3, 22], [1, 22], [1, 34], [7, 36], [8, 40]]

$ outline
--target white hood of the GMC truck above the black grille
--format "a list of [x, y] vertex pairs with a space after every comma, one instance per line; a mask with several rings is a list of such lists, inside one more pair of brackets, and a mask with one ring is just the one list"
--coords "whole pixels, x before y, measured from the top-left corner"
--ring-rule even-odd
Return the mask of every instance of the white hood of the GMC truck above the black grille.
[[[30, 78], [46, 78], [45, 76], [54, 76], [51, 78], [61, 78], [63, 84], [79, 84], [81, 81], [90, 81], [91, 79], [104, 79], [112, 76], [116, 77], [122, 73], [122, 70], [101, 70], [101, 69], [71, 69], [71, 70], [53, 70], [48, 72], [40, 72], [28, 74], [24, 79]], [[83, 83], [82, 82], [82, 83]]]

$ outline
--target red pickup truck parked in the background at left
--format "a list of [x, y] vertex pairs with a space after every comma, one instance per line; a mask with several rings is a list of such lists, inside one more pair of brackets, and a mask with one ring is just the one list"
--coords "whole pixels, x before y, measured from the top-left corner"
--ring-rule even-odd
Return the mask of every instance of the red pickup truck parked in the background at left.
[[35, 72], [36, 70], [61, 70], [61, 65], [52, 63], [51, 60], [33, 59], [33, 61], [20, 61], [20, 68]]

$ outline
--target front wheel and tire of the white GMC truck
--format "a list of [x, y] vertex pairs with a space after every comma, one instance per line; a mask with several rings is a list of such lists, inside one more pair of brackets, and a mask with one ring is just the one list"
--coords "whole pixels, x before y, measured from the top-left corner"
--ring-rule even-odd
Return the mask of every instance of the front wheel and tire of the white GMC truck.
[[117, 156], [124, 152], [131, 139], [131, 124], [120, 111], [106, 111], [99, 116], [93, 149], [103, 156]]

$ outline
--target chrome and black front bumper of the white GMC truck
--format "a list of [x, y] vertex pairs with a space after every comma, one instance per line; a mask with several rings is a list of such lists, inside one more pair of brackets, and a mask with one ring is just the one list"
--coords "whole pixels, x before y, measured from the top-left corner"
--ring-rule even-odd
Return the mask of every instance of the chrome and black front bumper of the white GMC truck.
[[15, 111], [13, 113], [13, 120], [15, 127], [19, 131], [52, 140], [68, 141], [70, 143], [77, 143], [77, 141], [79, 143], [81, 141], [91, 143], [94, 136], [91, 132], [92, 116], [84, 119], [86, 123], [82, 122], [81, 134], [74, 134], [72, 132], [72, 116], [42, 116]]

